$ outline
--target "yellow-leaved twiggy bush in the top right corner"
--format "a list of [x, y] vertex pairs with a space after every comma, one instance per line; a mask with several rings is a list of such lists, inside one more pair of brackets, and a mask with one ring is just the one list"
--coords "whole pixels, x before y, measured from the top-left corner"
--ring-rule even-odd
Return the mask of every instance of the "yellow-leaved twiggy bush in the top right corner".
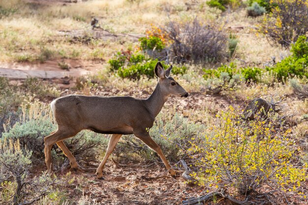
[[260, 31], [274, 42], [288, 47], [308, 32], [306, 0], [274, 0], [275, 7], [261, 24]]

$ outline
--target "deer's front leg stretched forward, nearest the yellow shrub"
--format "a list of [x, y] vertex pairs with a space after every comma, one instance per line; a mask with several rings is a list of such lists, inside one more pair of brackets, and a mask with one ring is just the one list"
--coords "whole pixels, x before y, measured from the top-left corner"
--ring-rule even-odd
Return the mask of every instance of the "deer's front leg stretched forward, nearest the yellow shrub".
[[170, 166], [168, 160], [166, 159], [165, 155], [162, 153], [161, 148], [154, 142], [154, 140], [151, 138], [148, 132], [142, 132], [142, 133], [135, 133], [135, 136], [142, 140], [147, 146], [149, 146], [151, 149], [153, 149], [162, 162], [165, 164], [167, 170], [169, 171], [169, 174], [173, 177], [176, 178], [176, 173]]

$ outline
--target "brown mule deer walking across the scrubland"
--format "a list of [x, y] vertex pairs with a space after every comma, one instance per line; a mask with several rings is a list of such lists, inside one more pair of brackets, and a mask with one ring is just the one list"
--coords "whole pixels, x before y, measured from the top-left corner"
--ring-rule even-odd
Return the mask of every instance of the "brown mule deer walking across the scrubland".
[[50, 105], [58, 129], [44, 138], [47, 172], [53, 173], [51, 149], [54, 144], [57, 144], [69, 159], [71, 169], [84, 171], [65, 146], [63, 140], [87, 129], [96, 133], [112, 134], [105, 156], [96, 169], [95, 174], [98, 179], [104, 179], [103, 167], [121, 136], [129, 134], [134, 134], [153, 149], [161, 158], [169, 174], [175, 178], [175, 171], [170, 166], [161, 148], [149, 134], [149, 129], [153, 126], [155, 117], [170, 95], [188, 97], [188, 92], [172, 77], [169, 77], [171, 69], [172, 65], [164, 70], [162, 64], [157, 62], [154, 73], [158, 78], [158, 83], [147, 99], [130, 96], [103, 97], [71, 94], [53, 100]]

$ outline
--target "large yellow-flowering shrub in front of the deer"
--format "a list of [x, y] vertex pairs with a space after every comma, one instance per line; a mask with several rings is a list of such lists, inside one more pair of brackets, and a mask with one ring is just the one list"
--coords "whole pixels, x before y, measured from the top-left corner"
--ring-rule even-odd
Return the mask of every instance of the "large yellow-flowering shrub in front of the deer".
[[228, 190], [231, 197], [240, 193], [246, 200], [250, 193], [269, 189], [303, 194], [301, 184], [307, 164], [296, 159], [297, 148], [287, 137], [290, 130], [274, 129], [274, 121], [256, 119], [243, 123], [231, 106], [217, 117], [218, 123], [203, 141], [190, 142], [187, 150], [197, 167], [191, 176], [200, 185]]

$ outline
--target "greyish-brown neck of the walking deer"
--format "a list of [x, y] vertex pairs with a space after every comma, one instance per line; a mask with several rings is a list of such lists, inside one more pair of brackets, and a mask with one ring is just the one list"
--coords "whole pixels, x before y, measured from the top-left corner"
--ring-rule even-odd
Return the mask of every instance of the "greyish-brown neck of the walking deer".
[[154, 92], [145, 100], [145, 102], [150, 113], [156, 117], [167, 99], [168, 94], [163, 93], [159, 84], [157, 84]]

